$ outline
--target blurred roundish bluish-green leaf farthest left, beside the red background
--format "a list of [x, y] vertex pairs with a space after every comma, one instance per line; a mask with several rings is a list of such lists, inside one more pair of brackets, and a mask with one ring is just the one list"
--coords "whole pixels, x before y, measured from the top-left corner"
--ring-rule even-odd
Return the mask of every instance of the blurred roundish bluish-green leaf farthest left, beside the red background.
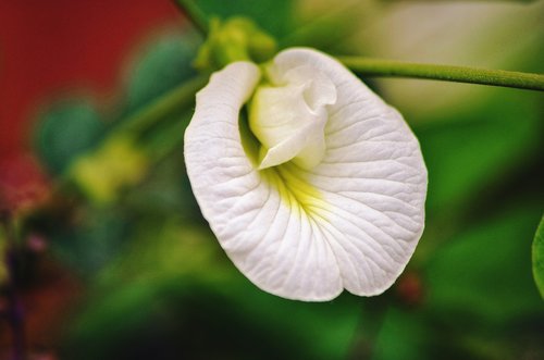
[[61, 174], [77, 156], [92, 148], [106, 132], [94, 101], [67, 99], [52, 104], [38, 119], [35, 148], [52, 174]]

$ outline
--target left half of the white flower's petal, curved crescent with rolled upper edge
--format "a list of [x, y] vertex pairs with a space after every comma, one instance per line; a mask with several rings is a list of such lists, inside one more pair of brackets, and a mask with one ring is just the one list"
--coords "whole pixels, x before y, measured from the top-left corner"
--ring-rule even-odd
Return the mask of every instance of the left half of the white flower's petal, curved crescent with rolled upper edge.
[[221, 246], [257, 286], [290, 299], [334, 298], [343, 287], [329, 244], [280, 176], [258, 171], [240, 144], [239, 109], [258, 80], [256, 65], [233, 63], [198, 94], [185, 133], [193, 190]]

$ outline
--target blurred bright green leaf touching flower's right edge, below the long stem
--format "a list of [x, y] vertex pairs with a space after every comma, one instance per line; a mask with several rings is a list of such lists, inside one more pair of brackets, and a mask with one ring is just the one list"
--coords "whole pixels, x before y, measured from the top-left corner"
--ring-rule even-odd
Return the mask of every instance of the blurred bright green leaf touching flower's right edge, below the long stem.
[[454, 214], [542, 149], [542, 96], [490, 88], [469, 109], [413, 129], [429, 169], [428, 212]]

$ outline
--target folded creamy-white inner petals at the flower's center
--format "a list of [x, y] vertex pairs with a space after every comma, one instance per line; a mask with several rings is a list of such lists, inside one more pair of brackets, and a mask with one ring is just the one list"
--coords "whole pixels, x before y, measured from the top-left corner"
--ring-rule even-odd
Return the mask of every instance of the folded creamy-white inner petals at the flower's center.
[[325, 153], [327, 105], [336, 102], [336, 87], [320, 70], [302, 65], [267, 67], [249, 104], [249, 127], [259, 139], [259, 169], [293, 161], [302, 169], [318, 165]]

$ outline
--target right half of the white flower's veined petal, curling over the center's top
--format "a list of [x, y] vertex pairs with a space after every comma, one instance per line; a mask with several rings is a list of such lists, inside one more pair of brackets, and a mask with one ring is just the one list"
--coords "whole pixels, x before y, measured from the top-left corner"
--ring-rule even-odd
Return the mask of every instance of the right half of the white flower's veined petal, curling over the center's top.
[[343, 286], [356, 295], [388, 288], [423, 232], [426, 169], [417, 138], [403, 116], [336, 60], [309, 49], [280, 53], [277, 72], [312, 64], [333, 79], [326, 152], [311, 171], [300, 170], [322, 194], [323, 219]]

